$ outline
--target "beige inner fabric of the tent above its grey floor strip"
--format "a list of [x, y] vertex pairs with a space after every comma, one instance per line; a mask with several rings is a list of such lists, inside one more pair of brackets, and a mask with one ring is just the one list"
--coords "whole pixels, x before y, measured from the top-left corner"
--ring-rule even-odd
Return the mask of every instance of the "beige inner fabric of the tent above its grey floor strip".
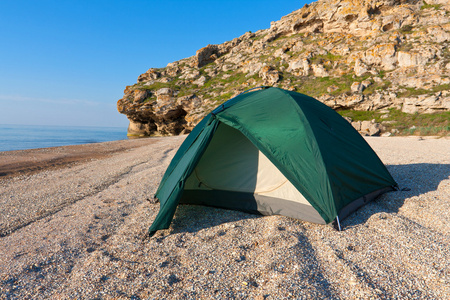
[[219, 125], [185, 189], [253, 193], [311, 206], [241, 132], [224, 124]]

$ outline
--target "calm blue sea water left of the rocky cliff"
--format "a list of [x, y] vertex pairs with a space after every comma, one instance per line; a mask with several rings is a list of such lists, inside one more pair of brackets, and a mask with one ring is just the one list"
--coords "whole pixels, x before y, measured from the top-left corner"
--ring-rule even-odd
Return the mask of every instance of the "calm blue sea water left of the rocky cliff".
[[127, 128], [0, 125], [0, 151], [80, 145], [127, 139]]

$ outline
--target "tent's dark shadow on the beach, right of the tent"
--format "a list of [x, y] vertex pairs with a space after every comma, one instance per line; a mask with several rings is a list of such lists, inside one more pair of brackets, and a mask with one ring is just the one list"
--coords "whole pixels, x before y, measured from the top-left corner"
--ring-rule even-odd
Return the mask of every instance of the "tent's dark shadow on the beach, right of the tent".
[[386, 167], [400, 190], [383, 194], [350, 214], [341, 222], [343, 230], [348, 226], [363, 224], [377, 213], [398, 213], [406, 199], [436, 191], [439, 184], [450, 177], [450, 164], [419, 163]]

